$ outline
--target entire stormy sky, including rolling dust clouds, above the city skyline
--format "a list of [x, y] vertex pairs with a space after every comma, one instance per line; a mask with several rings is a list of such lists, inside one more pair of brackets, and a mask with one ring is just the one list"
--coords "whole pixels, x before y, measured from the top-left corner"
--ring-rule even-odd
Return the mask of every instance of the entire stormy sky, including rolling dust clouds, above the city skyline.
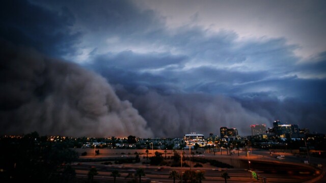
[[325, 1], [2, 1], [1, 131], [326, 133]]

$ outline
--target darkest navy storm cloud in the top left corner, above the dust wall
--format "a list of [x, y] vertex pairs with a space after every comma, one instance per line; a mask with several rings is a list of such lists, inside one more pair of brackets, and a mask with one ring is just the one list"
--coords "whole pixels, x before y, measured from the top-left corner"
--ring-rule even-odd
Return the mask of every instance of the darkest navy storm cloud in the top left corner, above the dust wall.
[[28, 1], [1, 1], [0, 35], [11, 42], [33, 46], [52, 55], [72, 54], [81, 34], [72, 32], [74, 17], [68, 9], [49, 11]]

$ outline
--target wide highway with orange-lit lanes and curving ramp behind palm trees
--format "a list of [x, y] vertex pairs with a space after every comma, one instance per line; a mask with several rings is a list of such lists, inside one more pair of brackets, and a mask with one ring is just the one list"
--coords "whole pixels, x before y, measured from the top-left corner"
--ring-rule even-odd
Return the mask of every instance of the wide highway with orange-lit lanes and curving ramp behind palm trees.
[[[276, 158], [278, 155], [282, 155], [282, 158]], [[133, 155], [130, 155], [133, 156]], [[101, 156], [99, 156], [101, 157]], [[99, 158], [97, 157], [97, 158]], [[102, 156], [103, 157], [103, 156]], [[108, 157], [105, 155], [105, 157]], [[110, 155], [110, 157], [121, 157], [118, 155]], [[246, 154], [243, 151], [240, 151], [239, 156], [237, 152], [235, 154], [220, 155], [216, 153], [198, 155], [196, 158], [205, 158], [205, 159], [239, 159], [239, 161], [243, 161], [244, 163], [251, 162], [248, 164], [248, 168], [229, 168], [229, 169], [221, 169], [218, 167], [206, 166], [204, 167], [192, 167], [192, 170], [201, 170], [205, 172], [205, 179], [202, 182], [225, 182], [224, 178], [221, 177], [221, 174], [224, 171], [227, 171], [229, 178], [227, 182], [276, 182], [276, 183], [286, 183], [286, 182], [315, 182], [311, 181], [318, 177], [318, 174], [308, 165], [302, 163], [305, 158], [300, 159], [296, 158], [290, 154], [286, 153], [269, 153], [269, 151], [264, 150], [254, 150], [254, 153], [250, 154], [249, 157], [246, 157]], [[85, 157], [85, 158], [95, 158]], [[145, 159], [141, 159], [141, 161], [145, 161]], [[190, 162], [187, 161], [189, 164]], [[193, 162], [194, 163], [194, 162]], [[194, 165], [194, 164], [193, 164]], [[300, 165], [300, 166], [298, 166]], [[249, 169], [250, 166], [250, 169]], [[189, 170], [189, 167], [183, 167], [182, 170], [180, 167], [162, 167], [158, 169], [159, 166], [150, 166], [142, 163], [137, 164], [112, 164], [112, 165], [104, 165], [101, 162], [82, 162], [82, 163], [74, 163], [73, 168], [76, 170], [76, 177], [80, 179], [84, 179], [84, 181], [77, 182], [85, 182], [87, 179], [87, 173], [90, 168], [95, 167], [98, 170], [98, 175], [94, 178], [99, 182], [113, 182], [113, 177], [110, 176], [113, 170], [118, 170], [121, 174], [120, 177], [116, 178], [116, 182], [128, 182], [128, 178], [126, 176], [128, 173], [135, 173], [135, 169], [143, 168], [145, 170], [146, 176], [142, 177], [142, 182], [173, 182], [172, 178], [169, 178], [169, 173], [172, 170], [177, 170], [181, 173], [185, 170]], [[252, 172], [254, 171], [258, 174], [258, 180], [252, 177]], [[321, 172], [320, 172], [321, 173]], [[179, 182], [180, 179], [176, 180]]]

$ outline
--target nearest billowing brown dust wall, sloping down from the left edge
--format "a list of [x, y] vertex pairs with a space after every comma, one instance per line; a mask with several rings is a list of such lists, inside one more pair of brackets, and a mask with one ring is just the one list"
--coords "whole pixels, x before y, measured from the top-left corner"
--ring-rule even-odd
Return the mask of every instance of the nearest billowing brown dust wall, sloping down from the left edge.
[[1, 41], [1, 134], [152, 137], [104, 78]]

